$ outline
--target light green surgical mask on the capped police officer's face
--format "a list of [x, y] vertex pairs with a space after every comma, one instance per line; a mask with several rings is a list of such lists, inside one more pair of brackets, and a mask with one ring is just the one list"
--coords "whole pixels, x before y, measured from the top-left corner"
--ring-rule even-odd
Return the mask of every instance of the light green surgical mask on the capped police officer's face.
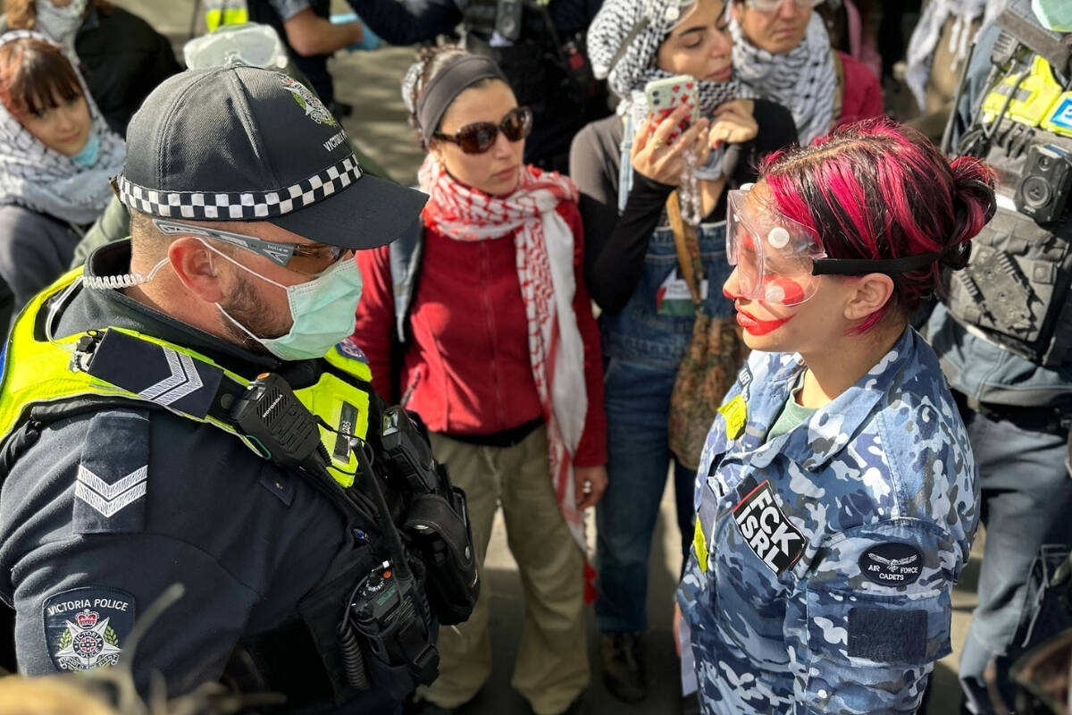
[[307, 283], [283, 285], [243, 266], [209, 245], [204, 239], [200, 241], [210, 251], [248, 273], [286, 291], [291, 318], [294, 323], [291, 329], [279, 338], [254, 336], [249, 328], [233, 318], [220, 303], [215, 303], [217, 310], [238, 326], [239, 330], [264, 345], [265, 349], [279, 359], [311, 360], [324, 357], [331, 347], [354, 332], [357, 324], [355, 312], [361, 299], [361, 271], [358, 270], [353, 256], [344, 256]]

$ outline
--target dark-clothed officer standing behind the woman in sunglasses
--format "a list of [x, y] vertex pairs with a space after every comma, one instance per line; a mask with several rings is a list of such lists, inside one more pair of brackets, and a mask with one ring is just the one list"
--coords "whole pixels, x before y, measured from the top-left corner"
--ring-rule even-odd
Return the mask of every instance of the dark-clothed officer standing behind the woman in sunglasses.
[[525, 163], [566, 174], [569, 143], [610, 114], [585, 56], [584, 33], [601, 0], [348, 0], [366, 26], [394, 45], [450, 34], [503, 70], [518, 104], [533, 110]]

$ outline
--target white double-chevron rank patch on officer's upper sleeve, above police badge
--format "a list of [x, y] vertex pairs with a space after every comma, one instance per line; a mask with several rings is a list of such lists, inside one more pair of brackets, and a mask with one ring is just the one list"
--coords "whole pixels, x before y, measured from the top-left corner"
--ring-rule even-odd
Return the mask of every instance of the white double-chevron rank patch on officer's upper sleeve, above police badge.
[[75, 533], [142, 531], [148, 488], [148, 413], [115, 409], [94, 415], [75, 474]]

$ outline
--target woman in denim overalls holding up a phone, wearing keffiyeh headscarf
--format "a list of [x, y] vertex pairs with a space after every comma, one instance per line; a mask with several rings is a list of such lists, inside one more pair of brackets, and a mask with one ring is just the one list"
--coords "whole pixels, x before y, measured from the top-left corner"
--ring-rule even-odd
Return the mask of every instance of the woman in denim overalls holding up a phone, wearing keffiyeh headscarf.
[[[702, 199], [702, 310], [735, 337], [732, 304], [718, 291], [729, 274], [724, 194], [755, 180], [758, 158], [796, 140], [787, 109], [740, 99], [726, 21], [726, 0], [606, 0], [589, 29], [589, 53], [597, 76], [621, 98], [620, 116], [589, 124], [570, 152], [607, 362], [609, 486], [596, 505], [600, 665], [608, 689], [630, 702], [646, 695], [647, 558], [671, 464], [683, 556], [693, 533], [696, 471], [670, 450], [668, 405], [697, 307], [664, 206], [683, 175], [690, 177], [687, 191], [695, 187]], [[697, 78], [700, 119], [674, 139], [683, 115], [649, 119], [644, 86], [678, 74]], [[723, 347], [733, 366], [727, 372], [735, 373], [740, 342], [728, 339]]]

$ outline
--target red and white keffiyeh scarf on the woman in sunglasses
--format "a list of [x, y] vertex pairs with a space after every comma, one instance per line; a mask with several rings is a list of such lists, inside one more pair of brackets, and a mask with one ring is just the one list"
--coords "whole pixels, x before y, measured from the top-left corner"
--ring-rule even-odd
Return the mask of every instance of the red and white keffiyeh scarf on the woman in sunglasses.
[[[528, 358], [544, 419], [559, 508], [581, 551], [584, 518], [577, 509], [574, 455], [589, 412], [584, 345], [574, 313], [574, 235], [555, 208], [578, 199], [577, 187], [556, 173], [522, 166], [518, 188], [491, 196], [453, 179], [429, 154], [420, 189], [431, 196], [425, 214], [445, 236], [485, 241], [513, 233], [518, 280], [528, 323]], [[516, 233], [515, 233], [516, 232]]]

